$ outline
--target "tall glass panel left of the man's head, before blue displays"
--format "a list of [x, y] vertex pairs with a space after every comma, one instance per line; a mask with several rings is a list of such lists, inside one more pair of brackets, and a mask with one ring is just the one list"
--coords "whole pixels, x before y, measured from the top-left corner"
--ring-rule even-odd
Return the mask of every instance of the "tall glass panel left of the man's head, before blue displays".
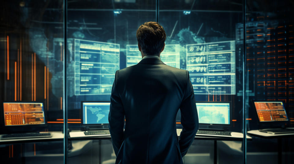
[[[155, 2], [134, 0], [68, 2], [67, 109], [70, 129], [68, 162], [85, 159], [96, 163], [109, 161], [115, 163], [110, 137], [104, 137], [105, 140], [96, 138], [85, 141], [83, 133], [92, 128], [108, 128], [109, 103], [108, 106], [94, 104], [94, 107], [88, 104], [89, 106], [83, 108], [81, 102], [110, 102], [115, 71], [127, 66], [130, 47], [138, 45], [136, 38], [138, 27], [145, 22], [156, 21]], [[137, 55], [138, 46], [134, 50], [134, 54]], [[128, 61], [137, 62], [137, 58], [134, 58]], [[105, 110], [101, 112], [100, 108]], [[91, 124], [96, 126], [90, 126]], [[91, 154], [86, 153], [89, 151]]]

